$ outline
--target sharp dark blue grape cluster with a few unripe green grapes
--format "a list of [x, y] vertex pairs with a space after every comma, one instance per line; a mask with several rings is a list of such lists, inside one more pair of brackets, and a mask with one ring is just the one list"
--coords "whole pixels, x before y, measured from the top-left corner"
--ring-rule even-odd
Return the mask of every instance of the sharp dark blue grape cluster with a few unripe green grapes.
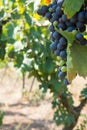
[[46, 17], [51, 25], [49, 30], [51, 32], [52, 44], [50, 49], [54, 52], [55, 55], [60, 57], [60, 65], [58, 67], [58, 77], [61, 80], [64, 80], [64, 84], [68, 85], [69, 82], [66, 78], [67, 75], [67, 39], [58, 33], [57, 29], [67, 30], [72, 32], [77, 30], [76, 41], [82, 45], [87, 44], [87, 40], [84, 38], [83, 32], [86, 30], [87, 24], [87, 10], [86, 6], [82, 7], [79, 12], [77, 12], [72, 18], [68, 18], [63, 12], [64, 0], [54, 0], [51, 4], [43, 5], [38, 9], [38, 14]]

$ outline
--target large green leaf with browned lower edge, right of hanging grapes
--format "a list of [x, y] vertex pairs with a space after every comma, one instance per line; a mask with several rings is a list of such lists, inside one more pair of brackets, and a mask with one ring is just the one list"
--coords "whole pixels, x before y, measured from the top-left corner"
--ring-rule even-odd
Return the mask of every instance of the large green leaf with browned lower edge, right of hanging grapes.
[[67, 73], [68, 79], [72, 80], [76, 74], [87, 76], [87, 46], [82, 46], [79, 43], [73, 43], [73, 46], [68, 48], [67, 57]]

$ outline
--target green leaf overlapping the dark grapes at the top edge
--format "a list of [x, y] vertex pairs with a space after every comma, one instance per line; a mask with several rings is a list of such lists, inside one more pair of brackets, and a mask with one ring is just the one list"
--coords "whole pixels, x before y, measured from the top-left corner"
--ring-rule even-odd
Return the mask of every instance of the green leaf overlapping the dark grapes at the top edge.
[[64, 0], [64, 13], [70, 18], [80, 10], [84, 0]]

